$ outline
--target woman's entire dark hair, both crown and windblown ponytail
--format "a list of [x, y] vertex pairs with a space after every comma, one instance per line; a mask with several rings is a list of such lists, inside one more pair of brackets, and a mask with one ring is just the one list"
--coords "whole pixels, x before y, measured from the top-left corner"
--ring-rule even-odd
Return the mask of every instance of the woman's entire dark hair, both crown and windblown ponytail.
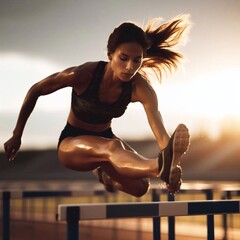
[[149, 69], [161, 81], [163, 73], [171, 73], [178, 68], [183, 55], [175, 47], [186, 40], [183, 33], [190, 26], [189, 15], [180, 15], [162, 24], [161, 18], [150, 20], [143, 28], [134, 23], [124, 22], [110, 34], [107, 44], [108, 54], [127, 42], [137, 42], [144, 50], [142, 66], [139, 70], [150, 80]]

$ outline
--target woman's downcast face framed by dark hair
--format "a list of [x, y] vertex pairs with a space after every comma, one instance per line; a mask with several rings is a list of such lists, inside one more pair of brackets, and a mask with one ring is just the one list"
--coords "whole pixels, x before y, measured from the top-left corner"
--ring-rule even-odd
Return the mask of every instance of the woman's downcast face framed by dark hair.
[[143, 48], [136, 42], [123, 43], [109, 54], [114, 79], [130, 81], [142, 65]]

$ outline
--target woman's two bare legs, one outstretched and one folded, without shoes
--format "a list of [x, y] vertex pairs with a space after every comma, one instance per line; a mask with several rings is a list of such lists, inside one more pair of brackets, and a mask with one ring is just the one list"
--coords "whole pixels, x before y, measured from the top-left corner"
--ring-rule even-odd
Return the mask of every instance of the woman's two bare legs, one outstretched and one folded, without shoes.
[[136, 197], [143, 196], [149, 188], [149, 180], [142, 176], [147, 176], [149, 171], [154, 172], [154, 164], [156, 174], [158, 172], [157, 160], [146, 160], [118, 139], [95, 136], [67, 138], [59, 146], [59, 159], [66, 167], [79, 171], [100, 166], [104, 184]]

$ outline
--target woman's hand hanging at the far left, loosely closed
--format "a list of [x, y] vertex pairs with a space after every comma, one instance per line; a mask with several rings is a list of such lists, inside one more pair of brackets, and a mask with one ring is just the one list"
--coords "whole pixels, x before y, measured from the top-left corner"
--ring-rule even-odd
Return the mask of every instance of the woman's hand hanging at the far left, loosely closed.
[[20, 146], [21, 146], [21, 137], [14, 136], [14, 135], [7, 142], [4, 143], [4, 149], [9, 161], [14, 160]]

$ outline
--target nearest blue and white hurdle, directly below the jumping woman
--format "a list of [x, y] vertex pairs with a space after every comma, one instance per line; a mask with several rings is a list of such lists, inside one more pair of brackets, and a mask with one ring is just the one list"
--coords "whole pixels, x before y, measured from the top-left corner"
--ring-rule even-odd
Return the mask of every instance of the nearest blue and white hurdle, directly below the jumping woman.
[[[79, 221], [81, 220], [153, 218], [239, 213], [240, 200], [58, 205], [59, 221], [67, 222], [67, 240], [79, 239]], [[208, 228], [214, 229], [214, 225], [211, 224], [208, 226]], [[213, 240], [214, 236], [208, 236], [207, 239]]]

